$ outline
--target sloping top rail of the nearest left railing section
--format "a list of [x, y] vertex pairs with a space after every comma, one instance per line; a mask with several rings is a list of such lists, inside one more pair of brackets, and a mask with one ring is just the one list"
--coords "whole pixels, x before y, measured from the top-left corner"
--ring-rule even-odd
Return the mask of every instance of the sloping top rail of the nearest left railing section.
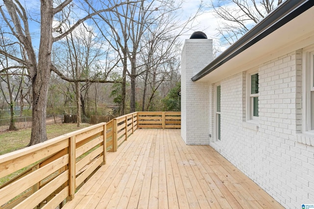
[[33, 153], [33, 152], [35, 152], [37, 150], [40, 150], [40, 149], [45, 148], [47, 146], [50, 146], [50, 145], [52, 145], [54, 143], [57, 143], [57, 142], [62, 141], [64, 139], [68, 139], [68, 138], [73, 137], [75, 135], [84, 133], [85, 131], [88, 131], [90, 129], [97, 128], [97, 127], [103, 126], [103, 125], [105, 125], [105, 122], [98, 123], [96, 125], [92, 125], [92, 126], [89, 126], [89, 127], [86, 127], [86, 128], [82, 128], [82, 129], [79, 129], [77, 131], [73, 131], [73, 132], [61, 135], [59, 137], [56, 137], [56, 138], [44, 141], [42, 143], [38, 143], [38, 144], [32, 145], [30, 147], [26, 147], [24, 149], [20, 149], [20, 150], [16, 150], [16, 151], [4, 154], [4, 155], [0, 155], [0, 163], [6, 162], [6, 161], [9, 161], [9, 160], [13, 160], [15, 158], [21, 157], [23, 155], [27, 155], [29, 153]]

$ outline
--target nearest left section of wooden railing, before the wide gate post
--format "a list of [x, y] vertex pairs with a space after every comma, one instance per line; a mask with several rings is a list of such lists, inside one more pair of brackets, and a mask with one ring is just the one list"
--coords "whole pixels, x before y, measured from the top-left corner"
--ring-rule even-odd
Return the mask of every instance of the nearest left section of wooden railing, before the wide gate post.
[[105, 130], [106, 124], [100, 123], [0, 156], [0, 178], [31, 166], [0, 186], [0, 206], [56, 208], [71, 200], [75, 190], [105, 163]]

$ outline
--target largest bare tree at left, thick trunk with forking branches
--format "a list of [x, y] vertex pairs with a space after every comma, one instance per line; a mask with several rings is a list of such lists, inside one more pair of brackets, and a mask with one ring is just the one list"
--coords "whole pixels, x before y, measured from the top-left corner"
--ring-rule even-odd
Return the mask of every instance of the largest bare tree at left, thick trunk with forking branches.
[[[85, 3], [87, 1], [88, 0], [80, 1], [79, 3], [81, 3], [81, 7], [87, 6]], [[53, 27], [55, 17], [62, 16], [66, 20], [70, 8], [75, 7], [77, 4], [73, 3], [72, 0], [63, 0], [60, 2], [41, 0], [40, 10], [37, 11], [37, 14], [40, 14], [40, 17], [38, 17], [38, 20], [40, 20], [40, 44], [37, 56], [29, 27], [29, 23], [33, 20], [33, 17], [28, 15], [27, 6], [22, 5], [19, 0], [3, 0], [5, 8], [3, 6], [0, 7], [1, 18], [9, 28], [8, 32], [11, 33], [11, 37], [15, 38], [12, 42], [18, 43], [23, 47], [25, 58], [23, 59], [21, 57], [7, 54], [3, 50], [0, 50], [0, 53], [6, 55], [11, 60], [26, 66], [28, 69], [28, 75], [32, 82], [32, 131], [28, 145], [33, 145], [47, 140], [46, 112], [47, 92], [49, 87], [48, 83], [50, 80], [51, 70], [58, 72], [58, 70], [52, 65], [51, 54], [53, 43], [69, 35], [75, 28], [78, 27], [78, 25], [87, 21], [91, 17], [101, 12], [111, 11], [114, 7], [122, 5], [123, 3], [124, 2], [121, 2], [113, 5], [112, 7], [106, 7], [95, 12], [88, 13], [82, 18], [78, 18], [67, 31], [63, 31], [62, 21], [60, 21], [59, 25]], [[55, 36], [53, 36], [53, 34], [55, 34]]]

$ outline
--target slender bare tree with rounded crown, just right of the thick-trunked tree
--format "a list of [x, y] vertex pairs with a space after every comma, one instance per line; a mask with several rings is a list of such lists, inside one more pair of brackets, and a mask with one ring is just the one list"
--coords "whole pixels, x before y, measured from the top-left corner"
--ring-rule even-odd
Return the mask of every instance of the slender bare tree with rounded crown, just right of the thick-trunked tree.
[[[70, 23], [68, 26], [70, 26]], [[83, 90], [85, 94], [88, 93], [90, 83], [94, 79], [102, 79], [101, 75], [104, 74], [97, 69], [96, 65], [104, 58], [103, 43], [94, 35], [93, 31], [93, 26], [83, 25], [66, 36], [66, 40], [61, 45], [66, 50], [66, 56], [61, 55], [57, 64], [59, 71], [62, 70], [74, 79], [78, 126], [81, 123], [81, 106], [83, 114], [86, 114], [81, 91]], [[80, 82], [82, 78], [88, 81]], [[103, 77], [103, 79], [106, 81], [106, 77]]]

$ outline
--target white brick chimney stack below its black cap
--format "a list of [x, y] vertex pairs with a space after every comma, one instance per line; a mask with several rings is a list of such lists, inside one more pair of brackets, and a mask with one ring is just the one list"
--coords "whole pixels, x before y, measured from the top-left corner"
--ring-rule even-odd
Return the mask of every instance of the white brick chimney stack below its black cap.
[[182, 139], [186, 144], [209, 144], [209, 85], [191, 78], [211, 62], [212, 40], [185, 40], [181, 60]]

